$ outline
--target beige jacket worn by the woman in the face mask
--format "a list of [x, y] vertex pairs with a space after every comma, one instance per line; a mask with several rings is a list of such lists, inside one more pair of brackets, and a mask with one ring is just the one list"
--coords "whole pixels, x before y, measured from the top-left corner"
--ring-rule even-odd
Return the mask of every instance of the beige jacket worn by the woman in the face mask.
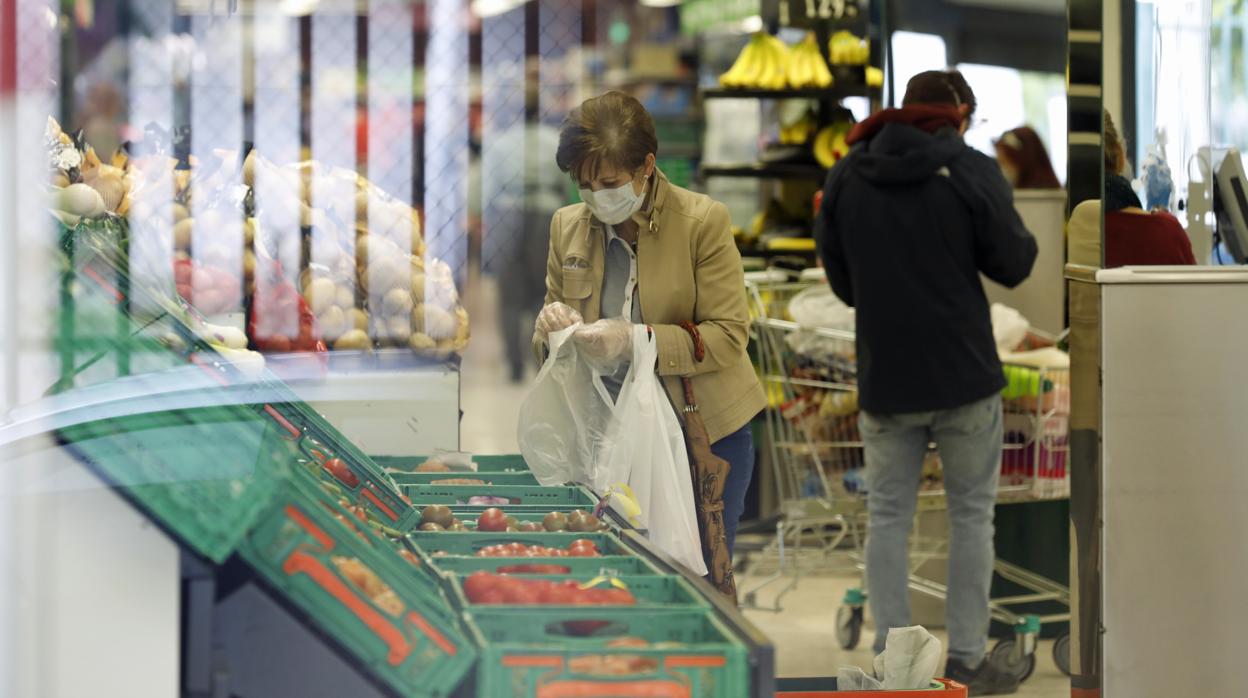
[[[668, 395], [684, 407], [680, 376], [693, 376], [694, 395], [711, 442], [735, 432], [766, 406], [745, 351], [750, 315], [745, 273], [729, 225], [728, 207], [680, 189], [656, 170], [653, 195], [634, 216], [638, 296], [641, 320], [654, 328], [659, 375]], [[565, 206], [550, 221], [547, 303], [563, 302], [584, 317], [600, 318], [604, 236], [584, 204]], [[706, 357], [694, 361], [694, 345], [679, 322], [698, 323]], [[544, 341], [533, 338], [538, 357]]]

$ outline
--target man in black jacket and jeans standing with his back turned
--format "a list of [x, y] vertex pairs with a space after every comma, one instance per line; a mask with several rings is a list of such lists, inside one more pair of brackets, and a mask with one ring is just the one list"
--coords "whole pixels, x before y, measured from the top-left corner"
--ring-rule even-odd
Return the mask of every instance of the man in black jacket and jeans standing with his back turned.
[[1005, 377], [980, 273], [1017, 286], [1036, 241], [1001, 169], [962, 140], [973, 111], [961, 74], [911, 79], [901, 109], [850, 134], [815, 235], [832, 291], [857, 310], [875, 649], [910, 624], [907, 537], [935, 442], [950, 518], [945, 676], [992, 696], [1018, 682], [985, 661]]

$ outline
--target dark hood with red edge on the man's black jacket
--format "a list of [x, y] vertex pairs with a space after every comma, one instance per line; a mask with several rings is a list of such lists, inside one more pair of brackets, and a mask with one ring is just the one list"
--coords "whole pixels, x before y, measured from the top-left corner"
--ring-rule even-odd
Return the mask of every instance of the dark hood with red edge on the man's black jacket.
[[966, 149], [957, 134], [958, 114], [952, 107], [927, 105], [881, 111], [859, 124], [852, 167], [876, 184], [925, 180], [947, 166]]

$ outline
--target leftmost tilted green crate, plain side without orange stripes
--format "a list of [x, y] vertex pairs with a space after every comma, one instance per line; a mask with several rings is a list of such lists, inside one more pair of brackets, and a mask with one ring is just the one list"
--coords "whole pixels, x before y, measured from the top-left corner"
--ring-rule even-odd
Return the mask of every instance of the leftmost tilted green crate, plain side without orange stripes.
[[296, 457], [270, 422], [230, 405], [79, 423], [60, 438], [213, 562], [268, 508]]

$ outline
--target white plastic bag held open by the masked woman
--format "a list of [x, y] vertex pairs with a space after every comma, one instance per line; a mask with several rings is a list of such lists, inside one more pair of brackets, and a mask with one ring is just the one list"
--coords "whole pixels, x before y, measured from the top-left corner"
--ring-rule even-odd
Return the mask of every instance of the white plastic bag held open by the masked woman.
[[689, 456], [655, 373], [655, 338], [633, 327], [633, 361], [613, 402], [602, 373], [577, 356], [574, 331], [550, 335], [550, 355], [520, 406], [520, 453], [542, 484], [582, 482], [599, 494], [626, 484], [650, 542], [705, 574]]

